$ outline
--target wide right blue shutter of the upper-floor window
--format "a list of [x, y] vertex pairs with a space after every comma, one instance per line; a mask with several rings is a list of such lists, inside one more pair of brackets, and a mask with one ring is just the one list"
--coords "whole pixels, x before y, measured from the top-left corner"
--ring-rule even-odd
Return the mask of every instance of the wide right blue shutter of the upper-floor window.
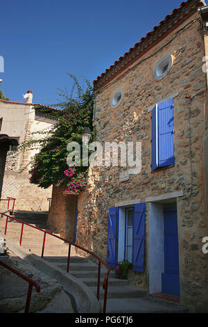
[[158, 104], [158, 166], [175, 163], [173, 99]]

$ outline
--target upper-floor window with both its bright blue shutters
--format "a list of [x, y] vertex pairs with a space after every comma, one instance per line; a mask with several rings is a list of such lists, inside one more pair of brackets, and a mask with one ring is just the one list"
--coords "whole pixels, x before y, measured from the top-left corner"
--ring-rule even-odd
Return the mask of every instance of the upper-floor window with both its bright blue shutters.
[[152, 111], [151, 120], [151, 169], [155, 170], [164, 166], [172, 166], [175, 163], [173, 99], [155, 104]]

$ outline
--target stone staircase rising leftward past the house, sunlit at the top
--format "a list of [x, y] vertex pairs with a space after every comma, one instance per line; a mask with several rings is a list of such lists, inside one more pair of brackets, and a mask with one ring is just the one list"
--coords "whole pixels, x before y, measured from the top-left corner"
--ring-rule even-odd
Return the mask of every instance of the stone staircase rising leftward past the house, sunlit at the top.
[[[45, 229], [47, 221], [47, 213], [31, 213], [31, 212], [15, 212], [15, 218], [30, 223], [38, 228]], [[0, 216], [1, 217], [1, 216]], [[4, 233], [6, 224], [6, 218], [0, 218], [0, 232]], [[21, 223], [15, 221], [8, 222], [8, 228], [6, 235], [13, 241], [19, 242], [21, 234]], [[56, 234], [59, 236], [59, 234]], [[44, 232], [35, 230], [27, 225], [24, 225], [23, 237], [21, 248], [29, 250], [31, 253], [41, 255], [42, 243], [43, 243]], [[67, 271], [67, 255], [68, 255], [67, 244], [56, 237], [46, 234], [46, 242], [44, 248], [44, 259], [58, 266], [58, 268]], [[89, 290], [97, 293], [97, 271], [98, 265], [89, 260], [87, 257], [82, 257], [76, 253], [76, 250], [71, 247], [71, 259], [69, 266], [69, 273], [83, 282]], [[107, 269], [101, 264], [101, 287], [100, 287], [100, 304], [101, 312], [103, 309], [103, 278]], [[142, 302], [141, 302], [142, 301]], [[146, 305], [144, 306], [144, 304]], [[142, 306], [143, 305], [143, 306]], [[142, 310], [141, 310], [142, 308]], [[151, 309], [152, 308], [152, 309]], [[120, 280], [115, 278], [114, 271], [110, 271], [108, 291], [107, 291], [107, 308], [106, 312], [181, 312], [179, 305], [173, 304], [162, 304], [157, 299], [148, 297], [146, 289], [136, 289], [130, 285], [129, 280]], [[151, 311], [152, 310], [152, 311]]]

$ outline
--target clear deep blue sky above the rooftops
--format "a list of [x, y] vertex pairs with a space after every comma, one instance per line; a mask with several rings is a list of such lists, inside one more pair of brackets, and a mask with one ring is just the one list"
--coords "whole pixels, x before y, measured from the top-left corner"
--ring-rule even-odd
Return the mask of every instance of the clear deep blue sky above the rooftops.
[[56, 86], [71, 90], [66, 72], [96, 79], [181, 0], [1, 1], [0, 88], [10, 100], [54, 104]]

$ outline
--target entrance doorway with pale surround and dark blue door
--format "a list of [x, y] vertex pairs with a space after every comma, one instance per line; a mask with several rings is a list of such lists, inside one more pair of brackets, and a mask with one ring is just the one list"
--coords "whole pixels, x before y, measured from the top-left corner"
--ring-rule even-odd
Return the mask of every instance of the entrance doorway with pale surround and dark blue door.
[[180, 296], [176, 205], [149, 204], [149, 292]]

